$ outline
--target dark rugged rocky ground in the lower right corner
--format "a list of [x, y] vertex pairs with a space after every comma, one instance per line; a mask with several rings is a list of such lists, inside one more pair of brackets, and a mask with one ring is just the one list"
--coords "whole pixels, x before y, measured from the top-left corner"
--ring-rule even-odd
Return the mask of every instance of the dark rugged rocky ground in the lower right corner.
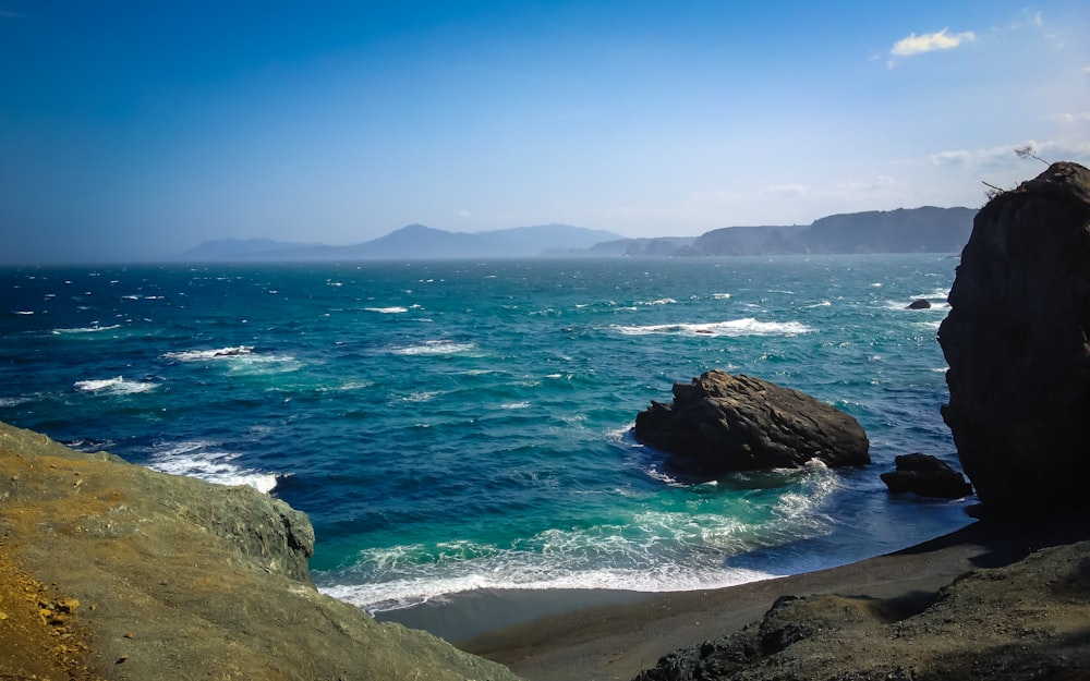
[[634, 681], [1087, 679], [1088, 560], [1081, 542], [934, 595], [782, 597], [760, 622], [666, 655]]

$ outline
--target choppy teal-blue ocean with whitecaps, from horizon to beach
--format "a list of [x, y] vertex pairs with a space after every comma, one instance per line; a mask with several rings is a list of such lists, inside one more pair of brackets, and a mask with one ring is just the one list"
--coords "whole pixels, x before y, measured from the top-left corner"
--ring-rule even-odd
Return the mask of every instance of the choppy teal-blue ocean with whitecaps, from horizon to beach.
[[[316, 584], [371, 612], [476, 588], [726, 586], [970, 522], [972, 498], [879, 478], [915, 451], [959, 467], [935, 340], [956, 265], [9, 268], [0, 421], [288, 501], [314, 524]], [[873, 464], [673, 479], [635, 415], [712, 368], [851, 414]]]

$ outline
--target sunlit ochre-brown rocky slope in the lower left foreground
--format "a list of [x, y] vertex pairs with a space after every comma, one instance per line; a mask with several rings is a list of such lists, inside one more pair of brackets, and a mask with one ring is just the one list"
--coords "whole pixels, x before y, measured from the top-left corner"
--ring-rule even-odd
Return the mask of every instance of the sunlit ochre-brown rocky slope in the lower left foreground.
[[[52, 585], [69, 624], [85, 630], [72, 669], [86, 671], [73, 678], [514, 679], [319, 594], [306, 516], [249, 487], [164, 475], [0, 424], [0, 532], [3, 558]], [[21, 644], [9, 634], [0, 628], [0, 649]], [[3, 678], [29, 678], [3, 664]]]

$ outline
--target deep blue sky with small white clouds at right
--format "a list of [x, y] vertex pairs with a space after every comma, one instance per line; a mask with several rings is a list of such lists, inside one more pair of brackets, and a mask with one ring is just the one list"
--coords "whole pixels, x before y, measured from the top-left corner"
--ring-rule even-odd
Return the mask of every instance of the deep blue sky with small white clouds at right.
[[0, 264], [979, 207], [1090, 165], [1085, 0], [0, 0]]

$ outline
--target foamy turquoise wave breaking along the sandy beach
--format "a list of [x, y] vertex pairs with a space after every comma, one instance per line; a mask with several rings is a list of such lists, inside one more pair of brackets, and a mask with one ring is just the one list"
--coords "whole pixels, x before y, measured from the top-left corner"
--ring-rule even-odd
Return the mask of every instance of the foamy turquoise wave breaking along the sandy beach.
[[780, 574], [771, 563], [731, 559], [828, 534], [834, 521], [822, 509], [839, 486], [820, 462], [780, 473], [784, 486], [773, 491], [749, 483], [767, 494], [764, 502], [739, 502], [737, 489], [714, 483], [690, 485], [676, 492], [673, 508], [617, 522], [545, 530], [511, 546], [458, 540], [368, 548], [354, 566], [316, 579], [325, 583], [322, 592], [371, 612], [480, 588], [674, 592], [770, 579]]

